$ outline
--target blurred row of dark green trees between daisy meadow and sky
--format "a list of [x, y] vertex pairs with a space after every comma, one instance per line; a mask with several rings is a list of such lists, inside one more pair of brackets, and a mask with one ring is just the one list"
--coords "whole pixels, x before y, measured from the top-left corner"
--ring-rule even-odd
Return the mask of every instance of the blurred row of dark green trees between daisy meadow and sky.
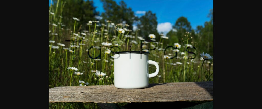
[[[156, 36], [156, 41], [160, 40], [160, 34], [157, 32], [157, 18], [156, 14], [148, 11], [143, 16], [137, 17], [130, 7], [125, 4], [124, 1], [120, 1], [117, 4], [113, 0], [101, 0], [105, 12], [99, 13], [96, 11], [94, 1], [84, 0], [53, 0], [53, 5], [50, 7], [50, 12], [60, 17], [59, 20], [54, 22], [62, 22], [65, 25], [65, 29], [72, 30], [74, 26], [73, 17], [78, 18], [80, 21], [76, 24], [79, 28], [77, 32], [88, 30], [86, 23], [88, 21], [99, 21], [99, 25], [107, 24], [107, 21], [112, 21], [115, 24], [124, 23], [130, 25], [128, 29], [132, 30], [133, 25], [136, 25], [138, 36], [142, 36], [145, 39], [149, 39], [149, 34]], [[63, 11], [60, 11], [63, 10]], [[61, 13], [57, 13], [61, 12]], [[213, 10], [210, 10], [208, 14], [210, 21], [205, 22], [204, 26], [197, 26], [193, 29], [187, 18], [181, 16], [175, 23], [173, 29], [169, 31], [166, 36], [169, 37], [165, 40], [165, 44], [173, 45], [178, 42], [184, 45], [186, 39], [184, 37], [185, 32], [190, 32], [192, 38], [189, 38], [189, 44], [196, 47], [199, 51], [205, 53], [213, 53]], [[132, 35], [132, 34], [131, 34]], [[164, 46], [165, 47], [165, 46]]]

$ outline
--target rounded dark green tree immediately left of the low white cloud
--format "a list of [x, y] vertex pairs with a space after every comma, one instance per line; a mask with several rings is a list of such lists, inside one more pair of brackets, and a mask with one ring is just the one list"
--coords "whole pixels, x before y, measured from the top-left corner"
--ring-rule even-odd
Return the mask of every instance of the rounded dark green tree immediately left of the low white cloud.
[[156, 36], [156, 40], [160, 40], [159, 34], [156, 30], [157, 21], [156, 14], [151, 11], [146, 12], [145, 15], [139, 18], [140, 22], [138, 23], [138, 28], [141, 30], [138, 31], [140, 36], [145, 37], [145, 39], [150, 39], [149, 34], [154, 34]]

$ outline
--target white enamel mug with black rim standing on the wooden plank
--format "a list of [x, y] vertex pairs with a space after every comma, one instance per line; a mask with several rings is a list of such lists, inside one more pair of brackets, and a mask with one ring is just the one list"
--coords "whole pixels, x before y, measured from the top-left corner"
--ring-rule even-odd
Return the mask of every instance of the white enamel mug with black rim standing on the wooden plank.
[[[119, 53], [119, 54], [117, 54]], [[114, 52], [114, 86], [119, 89], [140, 89], [148, 87], [148, 80], [159, 72], [155, 61], [148, 60], [149, 52]], [[156, 66], [155, 73], [148, 73], [148, 64]]]

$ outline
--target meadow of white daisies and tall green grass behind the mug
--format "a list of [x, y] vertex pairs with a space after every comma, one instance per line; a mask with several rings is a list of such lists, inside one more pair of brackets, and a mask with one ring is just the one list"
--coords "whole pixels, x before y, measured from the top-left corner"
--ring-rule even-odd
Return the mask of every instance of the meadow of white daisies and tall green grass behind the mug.
[[[143, 51], [150, 52], [149, 60], [159, 64], [159, 74], [149, 78], [150, 84], [213, 81], [212, 21], [206, 22], [205, 27], [194, 30], [179, 26], [183, 25], [179, 21], [184, 18], [177, 19], [177, 25], [167, 34], [163, 34], [154, 29], [144, 29], [145, 24], [152, 24], [150, 22], [141, 22], [138, 28], [133, 29], [133, 23], [114, 21], [110, 17], [99, 19], [97, 15], [92, 15], [92, 18], [85, 19], [84, 15], [73, 16], [74, 14], [70, 13], [77, 12], [67, 9], [72, 2], [78, 3], [58, 0], [49, 8], [49, 88], [114, 84], [113, 51], [140, 51], [140, 47]], [[103, 2], [106, 4], [107, 1]], [[85, 3], [92, 6], [92, 1]], [[152, 12], [148, 12], [150, 13]], [[148, 18], [146, 15], [138, 18], [138, 21]], [[113, 46], [119, 49], [111, 48]], [[167, 48], [164, 55], [168, 46], [177, 49]], [[187, 47], [190, 53], [186, 51]], [[90, 56], [98, 58], [91, 59]], [[149, 73], [155, 70], [154, 65], [149, 65]], [[96, 103], [50, 103], [50, 108], [99, 107]]]

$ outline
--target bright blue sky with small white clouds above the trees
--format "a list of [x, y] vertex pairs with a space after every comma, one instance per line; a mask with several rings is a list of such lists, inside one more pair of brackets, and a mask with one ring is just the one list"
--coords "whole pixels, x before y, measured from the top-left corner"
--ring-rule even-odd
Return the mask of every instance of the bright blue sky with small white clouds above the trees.
[[[119, 4], [120, 0], [116, 0]], [[156, 13], [159, 32], [166, 33], [172, 29], [176, 20], [184, 16], [191, 23], [192, 28], [210, 21], [207, 17], [209, 10], [213, 9], [212, 0], [124, 0], [127, 7], [132, 8], [137, 16], [142, 16], [146, 11]], [[104, 12], [100, 0], [94, 0], [97, 11]]]

